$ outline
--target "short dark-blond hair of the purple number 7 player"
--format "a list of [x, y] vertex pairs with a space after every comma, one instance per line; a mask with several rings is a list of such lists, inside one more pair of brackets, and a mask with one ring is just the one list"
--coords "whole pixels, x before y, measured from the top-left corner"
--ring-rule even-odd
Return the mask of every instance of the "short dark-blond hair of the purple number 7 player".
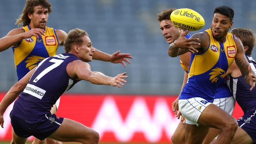
[[89, 37], [88, 33], [84, 30], [80, 30], [78, 28], [70, 30], [65, 41], [64, 41], [64, 49], [65, 53], [68, 53], [74, 44], [81, 45], [83, 43], [82, 38], [84, 36]]

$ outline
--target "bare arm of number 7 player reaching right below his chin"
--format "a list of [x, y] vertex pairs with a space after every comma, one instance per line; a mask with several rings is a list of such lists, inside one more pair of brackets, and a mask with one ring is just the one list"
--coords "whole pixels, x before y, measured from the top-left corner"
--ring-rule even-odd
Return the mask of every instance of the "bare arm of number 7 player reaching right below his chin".
[[111, 85], [113, 87], [124, 86], [128, 76], [125, 76], [126, 72], [118, 74], [114, 78], [104, 75], [101, 72], [92, 72], [91, 66], [88, 63], [80, 60], [72, 61], [67, 65], [67, 72], [71, 78], [78, 80], [90, 81], [96, 85]]

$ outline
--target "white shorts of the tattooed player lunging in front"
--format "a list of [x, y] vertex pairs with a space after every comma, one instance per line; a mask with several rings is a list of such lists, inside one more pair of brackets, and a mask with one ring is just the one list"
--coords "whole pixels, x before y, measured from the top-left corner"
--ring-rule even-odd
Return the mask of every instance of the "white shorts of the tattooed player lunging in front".
[[210, 102], [203, 98], [189, 98], [187, 100], [179, 100], [179, 109], [182, 115], [186, 118], [187, 124], [195, 124], [199, 126], [197, 123], [198, 118], [210, 104]]

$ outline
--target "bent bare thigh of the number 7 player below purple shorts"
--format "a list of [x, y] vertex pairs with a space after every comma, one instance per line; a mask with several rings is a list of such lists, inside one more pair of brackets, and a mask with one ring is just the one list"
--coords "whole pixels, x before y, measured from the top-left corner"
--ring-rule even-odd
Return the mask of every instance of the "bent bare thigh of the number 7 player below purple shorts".
[[61, 142], [85, 142], [85, 140], [92, 140], [99, 138], [99, 135], [93, 129], [84, 126], [74, 120], [64, 118], [61, 126], [49, 136]]

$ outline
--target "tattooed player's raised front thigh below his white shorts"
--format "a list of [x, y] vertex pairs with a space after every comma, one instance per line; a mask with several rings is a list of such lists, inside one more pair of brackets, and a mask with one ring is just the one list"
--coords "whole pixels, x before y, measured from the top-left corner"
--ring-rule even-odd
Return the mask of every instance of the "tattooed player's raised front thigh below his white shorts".
[[223, 129], [229, 125], [237, 125], [234, 117], [214, 104], [210, 104], [204, 109], [198, 118], [198, 123], [217, 129]]

